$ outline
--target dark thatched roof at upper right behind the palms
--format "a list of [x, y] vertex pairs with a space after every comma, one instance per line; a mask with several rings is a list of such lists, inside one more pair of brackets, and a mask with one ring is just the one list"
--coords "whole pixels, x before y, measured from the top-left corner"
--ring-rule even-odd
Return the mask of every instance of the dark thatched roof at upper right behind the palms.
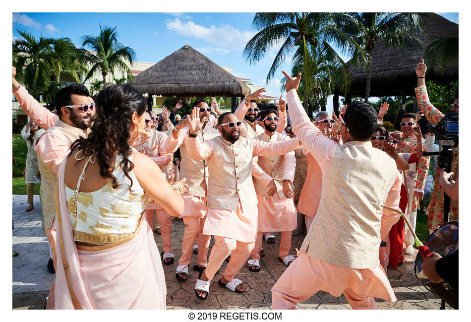
[[[445, 38], [458, 37], [458, 24], [435, 13], [424, 13], [423, 33], [416, 35], [425, 47], [431, 42]], [[370, 96], [414, 96], [414, 87], [417, 86], [417, 78], [414, 68], [424, 58], [424, 49], [402, 50], [386, 47], [378, 41], [371, 51], [373, 59], [371, 65]], [[458, 63], [445, 65], [442, 73], [441, 67], [432, 67], [427, 64], [426, 80], [433, 80], [439, 84], [448, 84], [458, 80]], [[347, 63], [352, 73], [350, 94], [364, 97], [366, 89], [366, 72]], [[344, 96], [344, 92], [336, 88], [335, 94]]]

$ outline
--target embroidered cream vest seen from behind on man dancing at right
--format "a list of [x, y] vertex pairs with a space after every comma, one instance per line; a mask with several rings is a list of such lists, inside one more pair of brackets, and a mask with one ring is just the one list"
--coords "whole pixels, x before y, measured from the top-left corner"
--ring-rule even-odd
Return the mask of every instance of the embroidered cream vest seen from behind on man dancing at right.
[[317, 214], [301, 251], [349, 268], [379, 264], [382, 208], [399, 173], [394, 160], [370, 141], [337, 145], [322, 173]]

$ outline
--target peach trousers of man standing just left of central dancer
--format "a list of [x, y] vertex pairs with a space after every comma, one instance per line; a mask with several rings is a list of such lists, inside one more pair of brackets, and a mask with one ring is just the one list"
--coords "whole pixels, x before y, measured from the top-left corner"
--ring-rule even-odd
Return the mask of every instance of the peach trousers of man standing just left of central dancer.
[[185, 224], [185, 232], [181, 242], [181, 257], [178, 259], [178, 265], [186, 265], [190, 263], [191, 253], [193, 252], [193, 243], [199, 236], [198, 242], [198, 259], [197, 264], [203, 267], [208, 263], [209, 243], [211, 235], [203, 235], [203, 227], [206, 217], [195, 218], [191, 216], [183, 216]]

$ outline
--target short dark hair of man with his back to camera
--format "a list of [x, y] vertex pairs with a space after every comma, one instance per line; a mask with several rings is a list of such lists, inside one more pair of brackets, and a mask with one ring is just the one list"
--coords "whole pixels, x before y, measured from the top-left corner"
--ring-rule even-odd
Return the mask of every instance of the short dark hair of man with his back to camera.
[[364, 102], [350, 103], [342, 118], [350, 135], [356, 140], [369, 140], [378, 124], [378, 113]]

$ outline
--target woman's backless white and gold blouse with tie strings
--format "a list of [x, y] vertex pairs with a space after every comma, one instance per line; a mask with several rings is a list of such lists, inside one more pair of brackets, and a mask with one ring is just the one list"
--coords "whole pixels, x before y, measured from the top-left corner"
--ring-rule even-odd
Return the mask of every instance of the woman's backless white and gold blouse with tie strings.
[[[125, 239], [137, 231], [139, 219], [147, 205], [147, 196], [139, 185], [134, 172], [130, 181], [120, 166], [122, 157], [117, 155], [113, 175], [120, 185], [113, 189], [113, 181], [94, 192], [78, 192], [64, 184], [67, 208], [73, 226], [74, 240], [106, 245]], [[132, 154], [129, 156], [132, 162]]]

